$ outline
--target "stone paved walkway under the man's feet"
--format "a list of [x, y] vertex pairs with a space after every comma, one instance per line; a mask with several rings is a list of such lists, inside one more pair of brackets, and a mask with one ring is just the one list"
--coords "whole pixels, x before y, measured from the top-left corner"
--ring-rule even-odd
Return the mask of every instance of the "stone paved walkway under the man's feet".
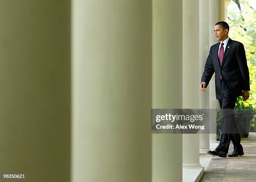
[[[244, 154], [241, 157], [213, 156], [200, 182], [256, 182], [256, 132], [242, 138]], [[230, 143], [229, 153], [233, 152]]]

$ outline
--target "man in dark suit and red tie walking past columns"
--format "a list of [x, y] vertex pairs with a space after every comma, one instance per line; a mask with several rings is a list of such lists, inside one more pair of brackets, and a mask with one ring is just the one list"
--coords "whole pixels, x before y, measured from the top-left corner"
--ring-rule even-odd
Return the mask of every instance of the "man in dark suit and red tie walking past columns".
[[[231, 40], [228, 37], [229, 26], [226, 22], [217, 22], [214, 27], [215, 37], [218, 42], [210, 47], [210, 52], [205, 63], [205, 70], [202, 75], [200, 90], [205, 92], [213, 73], [215, 72], [216, 98], [223, 111], [234, 109], [236, 98], [243, 96], [243, 100], [249, 98], [250, 84], [249, 71], [246, 62], [246, 54], [241, 42]], [[230, 140], [233, 142], [234, 151], [228, 157], [237, 157], [243, 154], [241, 137], [238, 132], [230, 132], [229, 128], [235, 123], [234, 116], [223, 117], [223, 134], [220, 144], [211, 155], [227, 157]]]

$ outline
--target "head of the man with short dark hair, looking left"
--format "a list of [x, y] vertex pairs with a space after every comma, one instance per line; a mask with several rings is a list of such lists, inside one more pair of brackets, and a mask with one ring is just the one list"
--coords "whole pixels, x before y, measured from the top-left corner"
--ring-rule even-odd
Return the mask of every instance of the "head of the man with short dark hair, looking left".
[[214, 26], [215, 37], [218, 41], [223, 42], [228, 38], [229, 26], [227, 22], [217, 22]]

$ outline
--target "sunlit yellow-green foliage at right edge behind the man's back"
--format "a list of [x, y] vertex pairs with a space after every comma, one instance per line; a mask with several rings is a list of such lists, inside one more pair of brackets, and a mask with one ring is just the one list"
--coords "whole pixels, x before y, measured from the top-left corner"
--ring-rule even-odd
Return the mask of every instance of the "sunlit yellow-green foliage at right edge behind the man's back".
[[250, 97], [243, 101], [241, 96], [236, 100], [237, 109], [255, 109], [256, 107], [256, 13], [252, 7], [253, 0], [233, 0], [228, 6], [229, 37], [242, 42], [250, 73]]

